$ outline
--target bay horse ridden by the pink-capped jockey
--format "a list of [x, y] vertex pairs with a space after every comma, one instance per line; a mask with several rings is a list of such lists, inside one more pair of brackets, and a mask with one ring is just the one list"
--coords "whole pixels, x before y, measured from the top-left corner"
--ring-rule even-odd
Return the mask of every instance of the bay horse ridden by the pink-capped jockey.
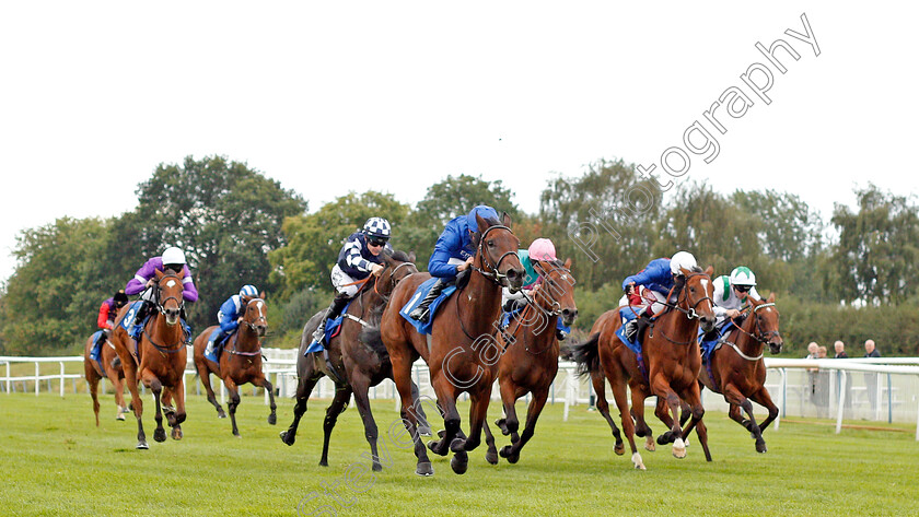
[[[504, 404], [504, 418], [496, 425], [504, 435], [511, 435], [511, 445], [501, 448], [500, 455], [511, 463], [520, 459], [520, 450], [533, 437], [536, 421], [539, 419], [549, 387], [558, 373], [559, 343], [556, 325], [561, 317], [565, 326], [570, 327], [578, 317], [574, 304], [574, 277], [571, 274], [571, 259], [562, 265], [559, 261], [540, 261], [535, 265], [543, 278], [538, 290], [523, 310], [513, 318], [507, 330], [497, 338], [503, 355], [498, 361], [498, 384], [501, 387], [501, 401]], [[517, 434], [520, 422], [514, 403], [526, 393], [533, 393], [526, 411], [526, 425], [523, 434]], [[498, 462], [495, 438], [488, 424], [485, 424], [485, 440], [488, 444], [486, 460]]]

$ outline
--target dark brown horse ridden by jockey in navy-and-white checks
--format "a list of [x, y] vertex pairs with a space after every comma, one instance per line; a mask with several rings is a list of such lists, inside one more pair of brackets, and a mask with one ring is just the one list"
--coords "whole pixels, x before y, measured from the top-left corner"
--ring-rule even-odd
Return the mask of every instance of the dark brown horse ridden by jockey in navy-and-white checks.
[[[313, 341], [313, 332], [323, 318], [324, 310], [315, 314], [303, 327], [300, 339], [300, 353], [296, 360], [296, 403], [293, 408], [293, 422], [287, 431], [281, 432], [281, 440], [293, 445], [296, 440], [296, 428], [300, 419], [306, 411], [306, 402], [316, 383], [323, 376], [327, 376], [335, 383], [335, 398], [326, 410], [326, 418], [323, 422], [323, 455], [319, 465], [328, 467], [328, 445], [331, 431], [338, 421], [338, 415], [345, 411], [351, 393], [354, 395], [354, 402], [358, 412], [361, 414], [364, 425], [364, 435], [370, 444], [372, 454], [372, 468], [374, 471], [383, 469], [376, 449], [377, 428], [376, 421], [370, 409], [369, 391], [371, 386], [376, 386], [383, 379], [393, 378], [393, 368], [389, 364], [389, 356], [379, 338], [375, 340], [359, 339], [361, 329], [380, 317], [382, 306], [388, 301], [388, 295], [396, 284], [411, 273], [417, 273], [415, 266], [415, 254], [406, 255], [404, 251], [394, 251], [392, 255], [384, 251], [384, 268], [380, 277], [368, 277], [363, 281], [361, 290], [354, 296], [348, 310], [345, 313], [339, 333], [331, 338], [327, 345], [328, 363], [325, 356], [319, 353], [305, 354], [306, 349]], [[329, 367], [331, 366], [331, 367]], [[416, 388], [417, 390], [417, 388]]]

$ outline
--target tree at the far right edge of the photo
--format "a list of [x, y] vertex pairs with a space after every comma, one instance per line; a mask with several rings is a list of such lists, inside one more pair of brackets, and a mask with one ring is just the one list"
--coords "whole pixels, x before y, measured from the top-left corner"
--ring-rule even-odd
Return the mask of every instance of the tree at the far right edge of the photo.
[[836, 204], [834, 262], [842, 299], [898, 304], [919, 292], [919, 212], [914, 197], [856, 190], [859, 211]]

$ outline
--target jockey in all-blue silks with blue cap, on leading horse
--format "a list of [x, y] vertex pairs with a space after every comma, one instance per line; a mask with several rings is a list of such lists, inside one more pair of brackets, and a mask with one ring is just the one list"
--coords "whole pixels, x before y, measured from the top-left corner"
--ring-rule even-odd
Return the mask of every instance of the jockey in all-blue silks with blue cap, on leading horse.
[[446, 285], [454, 283], [460, 273], [467, 271], [473, 265], [476, 258], [473, 234], [478, 232], [476, 215], [484, 220], [500, 221], [493, 208], [479, 204], [468, 214], [453, 218], [446, 223], [428, 261], [428, 272], [438, 281], [431, 285], [424, 299], [408, 315], [411, 319], [427, 322], [430, 318], [428, 307], [431, 303], [440, 296]]

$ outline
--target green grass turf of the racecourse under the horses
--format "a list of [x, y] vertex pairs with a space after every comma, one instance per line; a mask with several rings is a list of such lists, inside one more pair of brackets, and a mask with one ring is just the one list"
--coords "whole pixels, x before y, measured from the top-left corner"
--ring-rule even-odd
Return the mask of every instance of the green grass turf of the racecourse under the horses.
[[[133, 419], [115, 421], [112, 395], [102, 399], [98, 428], [86, 395], [0, 395], [0, 515], [919, 515], [919, 443], [901, 432], [909, 426], [836, 435], [831, 426], [783, 422], [767, 431], [769, 451], [758, 455], [748, 433], [709, 413], [714, 462], [705, 462], [694, 435], [683, 460], [668, 446], [640, 448], [648, 471], [639, 472], [628, 453], [613, 454], [597, 413], [581, 406], [562, 422], [556, 404], [547, 406], [517, 465], [487, 465], [482, 444], [466, 474], [432, 456], [435, 475], [421, 479], [411, 451], [393, 442], [400, 424], [392, 401], [374, 402], [392, 467], [371, 473], [354, 408], [339, 418], [324, 468], [317, 463], [327, 401], [311, 401], [288, 447], [278, 432], [290, 423], [290, 400], [279, 400], [278, 425], [269, 426], [261, 397], [245, 397], [240, 439], [203, 398], [190, 397], [185, 438], [159, 444], [147, 397], [151, 448], [136, 450]], [[468, 404], [462, 409], [465, 419]], [[522, 403], [517, 411], [525, 412]], [[492, 403], [489, 421], [499, 413]], [[499, 447], [509, 443], [497, 439]]]

